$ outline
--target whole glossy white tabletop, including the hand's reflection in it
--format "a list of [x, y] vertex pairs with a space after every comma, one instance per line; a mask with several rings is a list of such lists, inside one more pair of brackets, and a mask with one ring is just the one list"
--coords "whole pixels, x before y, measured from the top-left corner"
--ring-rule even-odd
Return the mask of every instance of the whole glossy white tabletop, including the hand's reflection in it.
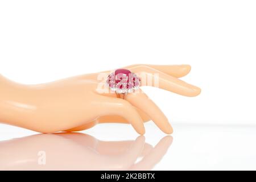
[[[172, 137], [152, 122], [144, 137], [117, 124], [83, 134], [35, 135], [7, 125], [0, 130], [1, 169], [256, 169], [256, 127], [249, 125], [176, 124]], [[46, 165], [38, 164], [40, 151], [46, 151]]]

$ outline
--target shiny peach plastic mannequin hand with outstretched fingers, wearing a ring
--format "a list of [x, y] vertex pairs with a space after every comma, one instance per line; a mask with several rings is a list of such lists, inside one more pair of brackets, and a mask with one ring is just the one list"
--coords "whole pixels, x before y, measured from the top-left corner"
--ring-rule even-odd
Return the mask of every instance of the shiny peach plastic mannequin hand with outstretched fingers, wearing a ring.
[[[158, 74], [161, 89], [191, 97], [200, 93], [196, 86], [177, 79], [187, 75], [189, 65], [126, 68], [153, 82], [151, 74]], [[108, 75], [110, 71], [103, 73]], [[168, 119], [146, 94], [130, 93], [122, 99], [115, 93], [99, 92], [105, 82], [98, 76], [99, 73], [93, 73], [39, 85], [22, 85], [0, 78], [0, 121], [42, 133], [80, 131], [97, 123], [121, 122], [131, 123], [139, 134], [144, 134], [143, 121], [152, 119], [164, 133], [172, 133]], [[142, 80], [141, 86], [147, 85]]]

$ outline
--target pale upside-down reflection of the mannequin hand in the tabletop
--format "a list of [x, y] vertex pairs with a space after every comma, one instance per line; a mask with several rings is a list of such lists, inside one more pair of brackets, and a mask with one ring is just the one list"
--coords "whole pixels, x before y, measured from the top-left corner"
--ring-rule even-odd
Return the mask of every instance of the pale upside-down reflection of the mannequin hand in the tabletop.
[[[172, 143], [166, 136], [152, 148], [134, 141], [104, 142], [81, 133], [39, 134], [0, 142], [0, 170], [149, 170]], [[39, 164], [45, 154], [45, 165]], [[136, 163], [138, 157], [143, 159]]]

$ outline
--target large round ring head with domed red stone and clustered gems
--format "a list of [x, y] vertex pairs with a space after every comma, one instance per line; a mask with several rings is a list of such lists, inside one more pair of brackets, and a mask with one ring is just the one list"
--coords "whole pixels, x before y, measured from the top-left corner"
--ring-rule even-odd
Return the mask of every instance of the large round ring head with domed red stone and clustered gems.
[[106, 82], [110, 90], [127, 94], [139, 89], [141, 78], [128, 69], [117, 69], [108, 76]]

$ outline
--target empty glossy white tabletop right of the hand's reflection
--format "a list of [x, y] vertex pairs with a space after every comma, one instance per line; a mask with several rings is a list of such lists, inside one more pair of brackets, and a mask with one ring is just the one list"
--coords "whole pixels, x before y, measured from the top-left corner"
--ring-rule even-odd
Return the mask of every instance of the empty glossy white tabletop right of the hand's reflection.
[[155, 169], [256, 169], [256, 127], [221, 125], [175, 126], [174, 142]]

